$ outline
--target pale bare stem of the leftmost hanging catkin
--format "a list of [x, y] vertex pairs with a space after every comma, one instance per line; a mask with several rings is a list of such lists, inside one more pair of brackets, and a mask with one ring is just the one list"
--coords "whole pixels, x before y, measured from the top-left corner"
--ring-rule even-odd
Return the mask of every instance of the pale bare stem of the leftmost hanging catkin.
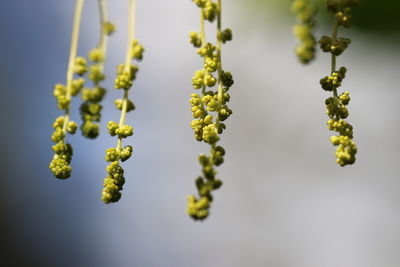
[[[71, 38], [71, 49], [69, 54], [69, 63], [68, 63], [68, 71], [67, 71], [67, 87], [66, 87], [66, 97], [67, 100], [71, 100], [71, 86], [72, 79], [74, 76], [74, 65], [76, 59], [76, 53], [78, 50], [78, 41], [79, 41], [79, 29], [81, 24], [82, 10], [83, 4], [85, 0], [76, 0], [75, 2], [75, 11], [74, 11], [74, 24], [72, 28], [72, 38]], [[63, 125], [63, 132], [67, 132], [67, 125], [70, 119], [70, 104], [67, 105], [65, 109], [65, 119]]]

